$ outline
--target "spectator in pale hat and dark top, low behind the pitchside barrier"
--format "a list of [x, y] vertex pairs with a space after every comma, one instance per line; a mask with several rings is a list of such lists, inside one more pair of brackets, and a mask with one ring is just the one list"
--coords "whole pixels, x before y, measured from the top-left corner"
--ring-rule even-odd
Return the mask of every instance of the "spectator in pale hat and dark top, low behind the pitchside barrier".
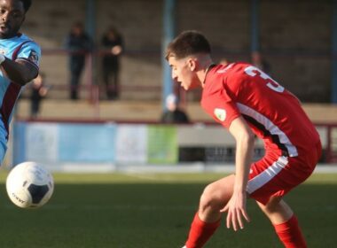
[[167, 110], [161, 115], [161, 123], [189, 123], [187, 114], [178, 107], [177, 97], [170, 94], [166, 98]]

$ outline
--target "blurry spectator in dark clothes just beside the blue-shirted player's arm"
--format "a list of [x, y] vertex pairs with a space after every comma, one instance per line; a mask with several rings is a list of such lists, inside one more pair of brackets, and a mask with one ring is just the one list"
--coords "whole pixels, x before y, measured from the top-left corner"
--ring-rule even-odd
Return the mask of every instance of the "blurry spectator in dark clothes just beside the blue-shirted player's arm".
[[48, 88], [44, 84], [44, 74], [39, 74], [32, 81], [32, 92], [30, 95], [30, 118], [36, 119], [40, 112], [43, 97], [47, 95]]

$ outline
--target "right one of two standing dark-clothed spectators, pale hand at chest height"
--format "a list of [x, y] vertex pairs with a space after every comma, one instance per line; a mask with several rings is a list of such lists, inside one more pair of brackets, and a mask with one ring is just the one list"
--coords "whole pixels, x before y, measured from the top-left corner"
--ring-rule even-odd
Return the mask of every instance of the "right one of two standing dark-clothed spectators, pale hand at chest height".
[[103, 80], [106, 85], [106, 97], [110, 100], [120, 97], [119, 72], [120, 57], [123, 50], [121, 34], [116, 28], [110, 27], [102, 37], [102, 45], [105, 49], [102, 68]]

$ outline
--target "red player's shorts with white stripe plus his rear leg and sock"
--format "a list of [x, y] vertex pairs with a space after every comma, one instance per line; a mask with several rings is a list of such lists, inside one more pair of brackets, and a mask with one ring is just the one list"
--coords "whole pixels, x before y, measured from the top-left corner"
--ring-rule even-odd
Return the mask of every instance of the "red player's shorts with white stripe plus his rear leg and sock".
[[319, 147], [314, 151], [302, 158], [264, 157], [252, 165], [249, 174], [250, 197], [258, 201], [287, 248], [307, 247], [297, 219], [282, 197], [310, 176], [319, 158]]

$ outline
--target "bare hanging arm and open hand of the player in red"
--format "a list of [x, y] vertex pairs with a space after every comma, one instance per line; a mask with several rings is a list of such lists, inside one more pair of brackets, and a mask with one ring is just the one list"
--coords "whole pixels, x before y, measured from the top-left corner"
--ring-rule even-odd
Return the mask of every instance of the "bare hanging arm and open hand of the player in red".
[[243, 229], [242, 218], [249, 221], [246, 210], [247, 199], [247, 181], [250, 169], [250, 163], [253, 154], [255, 136], [248, 127], [246, 120], [238, 117], [232, 120], [229, 131], [236, 140], [236, 157], [235, 157], [235, 182], [233, 195], [222, 212], [227, 213], [227, 228]]

